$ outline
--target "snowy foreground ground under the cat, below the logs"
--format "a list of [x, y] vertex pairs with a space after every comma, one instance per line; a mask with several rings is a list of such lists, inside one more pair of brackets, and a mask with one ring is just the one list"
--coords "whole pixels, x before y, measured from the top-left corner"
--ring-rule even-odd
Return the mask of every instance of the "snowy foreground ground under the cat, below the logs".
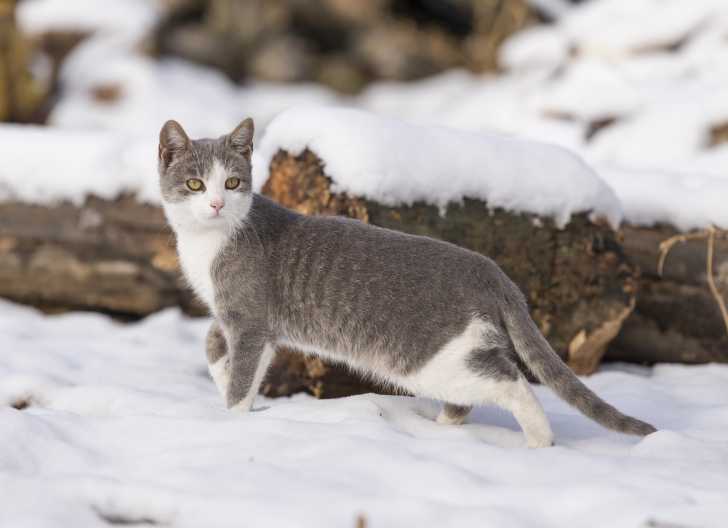
[[[228, 413], [206, 372], [208, 322], [132, 325], [0, 302], [0, 526], [723, 526], [728, 366], [610, 367], [585, 379], [661, 430], [600, 428], [536, 387], [556, 447], [477, 409], [423, 399], [258, 400]], [[30, 402], [23, 410], [11, 404]]]

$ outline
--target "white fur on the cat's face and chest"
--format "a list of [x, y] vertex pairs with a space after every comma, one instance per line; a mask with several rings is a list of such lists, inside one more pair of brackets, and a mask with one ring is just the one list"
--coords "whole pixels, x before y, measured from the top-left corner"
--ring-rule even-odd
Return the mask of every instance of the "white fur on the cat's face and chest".
[[[205, 179], [205, 191], [182, 202], [165, 202], [164, 212], [177, 234], [177, 253], [187, 282], [214, 312], [215, 289], [212, 263], [225, 247], [230, 234], [248, 214], [251, 193], [225, 189], [228, 174], [217, 160]], [[219, 214], [210, 206], [222, 200]]]

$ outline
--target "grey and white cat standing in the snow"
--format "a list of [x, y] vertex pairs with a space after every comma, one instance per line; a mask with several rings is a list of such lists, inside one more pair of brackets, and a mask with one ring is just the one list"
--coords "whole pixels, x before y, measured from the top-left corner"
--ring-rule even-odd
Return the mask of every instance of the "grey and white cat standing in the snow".
[[215, 318], [207, 355], [229, 408], [251, 408], [275, 348], [287, 345], [445, 402], [441, 423], [498, 405], [530, 447], [552, 445], [553, 433], [519, 365], [605, 427], [655, 431], [574, 376], [492, 260], [254, 194], [252, 139], [250, 119], [195, 141], [168, 121], [159, 144], [164, 209], [184, 274]]

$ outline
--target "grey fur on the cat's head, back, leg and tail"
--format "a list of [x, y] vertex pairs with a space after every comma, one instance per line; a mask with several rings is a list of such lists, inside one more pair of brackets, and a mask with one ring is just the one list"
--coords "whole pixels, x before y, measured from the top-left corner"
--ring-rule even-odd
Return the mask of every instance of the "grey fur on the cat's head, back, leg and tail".
[[[237, 192], [250, 192], [252, 122], [231, 136], [197, 141], [185, 140], [181, 127], [170, 123], [160, 134], [165, 201], [184, 201], [186, 178], [204, 180], [215, 160], [242, 180]], [[211, 274], [211, 308], [220, 328], [210, 331], [208, 356], [218, 360], [227, 342], [229, 407], [250, 400], [266, 347], [281, 341], [328, 351], [365, 373], [376, 365], [385, 379], [402, 379], [422, 371], [478, 320], [493, 330], [468, 356], [472, 372], [518, 380], [523, 362], [600, 424], [639, 435], [655, 430], [585, 387], [550, 348], [523, 295], [495, 262], [453, 244], [356, 220], [306, 217], [254, 195]], [[468, 410], [446, 406], [456, 416]]]

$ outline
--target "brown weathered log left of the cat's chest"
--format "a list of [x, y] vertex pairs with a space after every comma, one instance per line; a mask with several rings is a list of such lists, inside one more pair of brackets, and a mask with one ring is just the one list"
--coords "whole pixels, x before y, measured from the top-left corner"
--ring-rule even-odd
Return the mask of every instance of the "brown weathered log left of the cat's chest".
[[184, 287], [159, 207], [131, 196], [83, 205], [0, 203], [0, 296], [43, 310], [138, 318], [204, 308]]

